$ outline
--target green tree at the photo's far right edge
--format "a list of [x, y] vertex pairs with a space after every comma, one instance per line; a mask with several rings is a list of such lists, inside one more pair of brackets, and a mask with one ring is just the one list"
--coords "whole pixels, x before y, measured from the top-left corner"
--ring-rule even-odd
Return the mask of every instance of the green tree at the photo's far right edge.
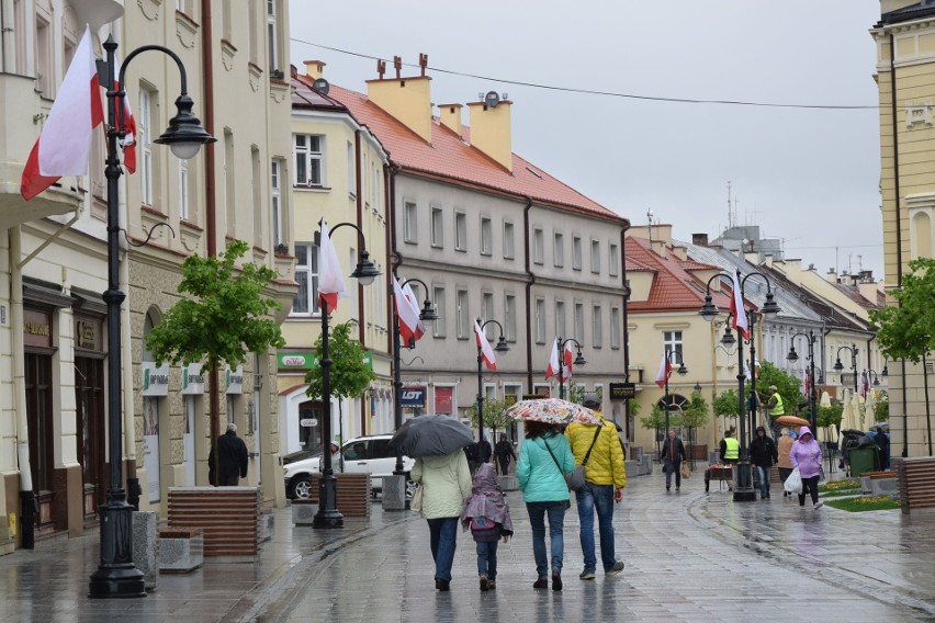
[[[888, 359], [922, 362], [925, 422], [928, 429], [928, 454], [932, 449], [932, 400], [928, 398], [928, 353], [935, 349], [935, 258], [917, 258], [909, 262], [902, 284], [891, 291], [898, 307], [870, 309], [870, 321], [878, 325], [877, 342]], [[906, 455], [903, 446], [903, 456]]]

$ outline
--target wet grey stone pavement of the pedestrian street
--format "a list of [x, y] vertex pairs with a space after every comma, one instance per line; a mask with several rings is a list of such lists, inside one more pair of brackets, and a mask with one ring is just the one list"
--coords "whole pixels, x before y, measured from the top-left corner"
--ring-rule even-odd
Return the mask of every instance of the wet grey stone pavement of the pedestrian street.
[[[577, 513], [565, 517], [564, 590], [533, 590], [536, 565], [519, 491], [516, 534], [498, 550], [496, 590], [481, 592], [470, 534], [459, 533], [450, 592], [438, 592], [428, 529], [412, 512], [293, 528], [277, 511], [255, 565], [209, 564], [162, 575], [145, 599], [91, 600], [95, 537], [0, 556], [0, 621], [935, 622], [935, 514], [802, 511], [775, 491], [736, 503], [703, 480], [666, 492], [660, 474], [632, 478], [615, 514], [619, 576], [582, 581]], [[808, 505], [811, 506], [811, 505]]]

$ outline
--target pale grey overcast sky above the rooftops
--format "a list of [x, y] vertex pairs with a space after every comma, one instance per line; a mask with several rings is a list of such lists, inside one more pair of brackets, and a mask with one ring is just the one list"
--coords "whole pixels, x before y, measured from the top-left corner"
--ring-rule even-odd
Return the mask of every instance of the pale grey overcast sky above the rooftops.
[[[878, 0], [292, 0], [290, 11], [293, 65], [324, 60], [345, 88], [365, 92], [376, 61], [309, 44], [413, 65], [426, 53], [429, 67], [485, 77], [429, 70], [432, 101], [507, 92], [514, 151], [633, 225], [652, 209], [677, 239], [714, 238], [728, 224], [730, 181], [735, 224], [784, 239], [787, 258], [822, 274], [863, 267], [883, 276], [868, 33]], [[676, 103], [510, 82], [870, 107]]]

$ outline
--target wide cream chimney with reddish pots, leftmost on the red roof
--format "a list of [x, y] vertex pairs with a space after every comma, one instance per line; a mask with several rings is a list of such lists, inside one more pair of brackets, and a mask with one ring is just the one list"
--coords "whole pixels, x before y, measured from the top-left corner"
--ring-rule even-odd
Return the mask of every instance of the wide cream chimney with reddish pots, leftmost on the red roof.
[[[428, 57], [420, 56], [419, 61], [428, 63]], [[384, 78], [381, 72], [376, 80], [367, 81], [367, 97], [423, 140], [431, 143], [431, 77], [403, 78], [399, 57], [394, 57], [393, 68], [396, 78]]]

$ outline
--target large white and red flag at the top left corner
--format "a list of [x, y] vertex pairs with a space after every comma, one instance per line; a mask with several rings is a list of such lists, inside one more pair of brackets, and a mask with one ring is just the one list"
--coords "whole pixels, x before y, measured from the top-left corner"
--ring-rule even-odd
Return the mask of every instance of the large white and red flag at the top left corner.
[[23, 169], [23, 199], [30, 201], [63, 175], [87, 175], [92, 133], [103, 121], [91, 27], [87, 26]]

